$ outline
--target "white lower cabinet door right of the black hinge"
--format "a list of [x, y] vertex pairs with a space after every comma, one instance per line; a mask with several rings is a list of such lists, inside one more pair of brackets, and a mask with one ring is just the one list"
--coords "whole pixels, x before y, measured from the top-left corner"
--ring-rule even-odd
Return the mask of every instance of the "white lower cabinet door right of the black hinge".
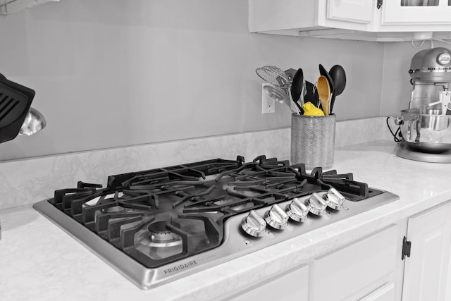
[[412, 248], [410, 257], [405, 257], [402, 300], [446, 300], [451, 203], [410, 218], [407, 240]]

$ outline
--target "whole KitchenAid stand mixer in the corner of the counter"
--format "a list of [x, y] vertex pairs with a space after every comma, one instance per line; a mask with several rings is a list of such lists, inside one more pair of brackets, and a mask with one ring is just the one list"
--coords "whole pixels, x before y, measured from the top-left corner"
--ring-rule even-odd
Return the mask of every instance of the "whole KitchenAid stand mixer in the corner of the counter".
[[409, 109], [397, 119], [402, 142], [396, 154], [405, 159], [451, 163], [451, 51], [443, 47], [419, 51], [410, 70], [414, 85]]

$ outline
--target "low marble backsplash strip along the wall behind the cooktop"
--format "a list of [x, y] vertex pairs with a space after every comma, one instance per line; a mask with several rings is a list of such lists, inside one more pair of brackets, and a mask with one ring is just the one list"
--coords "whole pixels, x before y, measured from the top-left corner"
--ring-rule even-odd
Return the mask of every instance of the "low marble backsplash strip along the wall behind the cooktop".
[[[389, 139], [383, 117], [338, 121], [335, 148]], [[53, 197], [54, 190], [75, 188], [79, 180], [106, 185], [117, 173], [237, 155], [251, 161], [260, 154], [290, 159], [290, 128], [4, 161], [0, 209]]]

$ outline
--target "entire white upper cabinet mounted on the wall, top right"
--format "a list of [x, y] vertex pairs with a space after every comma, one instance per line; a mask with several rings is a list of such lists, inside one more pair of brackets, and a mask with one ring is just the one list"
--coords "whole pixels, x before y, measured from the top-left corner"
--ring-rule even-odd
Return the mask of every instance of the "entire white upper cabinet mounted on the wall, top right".
[[249, 0], [249, 31], [366, 41], [451, 38], [451, 0]]

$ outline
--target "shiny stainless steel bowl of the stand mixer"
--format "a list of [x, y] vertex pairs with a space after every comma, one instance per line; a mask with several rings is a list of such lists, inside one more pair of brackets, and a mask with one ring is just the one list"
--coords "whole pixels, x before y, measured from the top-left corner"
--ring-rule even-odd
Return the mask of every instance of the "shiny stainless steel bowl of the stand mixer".
[[419, 152], [440, 153], [451, 150], [451, 115], [440, 115], [440, 110], [419, 109], [401, 111], [401, 133], [407, 145]]

